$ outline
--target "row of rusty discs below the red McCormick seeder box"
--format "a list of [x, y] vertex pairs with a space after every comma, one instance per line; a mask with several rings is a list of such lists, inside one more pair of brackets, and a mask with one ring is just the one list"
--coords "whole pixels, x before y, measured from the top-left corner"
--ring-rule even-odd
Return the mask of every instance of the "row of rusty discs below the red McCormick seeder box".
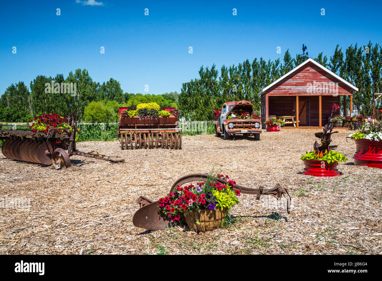
[[181, 149], [182, 135], [179, 133], [123, 133], [121, 149]]

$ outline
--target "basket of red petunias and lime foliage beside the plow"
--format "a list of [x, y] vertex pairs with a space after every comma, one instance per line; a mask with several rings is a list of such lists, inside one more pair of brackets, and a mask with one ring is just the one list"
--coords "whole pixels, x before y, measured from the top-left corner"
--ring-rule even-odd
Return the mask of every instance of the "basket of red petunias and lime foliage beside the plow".
[[211, 231], [221, 228], [230, 208], [239, 203], [240, 191], [234, 191], [228, 175], [217, 177], [228, 182], [221, 184], [210, 176], [206, 182], [176, 187], [175, 192], [159, 199], [158, 208], [173, 222], [185, 221], [191, 231]]

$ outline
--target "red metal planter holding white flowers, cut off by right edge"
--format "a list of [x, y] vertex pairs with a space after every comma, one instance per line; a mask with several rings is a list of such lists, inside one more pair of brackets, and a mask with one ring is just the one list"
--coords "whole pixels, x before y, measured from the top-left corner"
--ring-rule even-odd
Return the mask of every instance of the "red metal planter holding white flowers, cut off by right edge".
[[357, 139], [354, 165], [382, 169], [382, 141]]

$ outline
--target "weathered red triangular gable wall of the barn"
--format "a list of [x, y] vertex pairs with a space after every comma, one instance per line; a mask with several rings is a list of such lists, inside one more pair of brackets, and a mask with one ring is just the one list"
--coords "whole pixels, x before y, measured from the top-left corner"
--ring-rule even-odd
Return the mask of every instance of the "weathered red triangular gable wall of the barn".
[[[353, 93], [353, 89], [347, 86], [345, 83], [340, 82], [335, 77], [317, 67], [313, 63], [309, 62], [302, 68], [296, 70], [290, 75], [286, 76], [283, 80], [279, 81], [277, 84], [269, 88], [266, 93], [269, 96], [272, 95], [320, 95], [321, 93], [308, 93], [307, 83], [316, 82], [333, 82], [338, 83], [338, 95], [348, 95]], [[322, 93], [322, 95], [331, 96], [333, 93]]]

